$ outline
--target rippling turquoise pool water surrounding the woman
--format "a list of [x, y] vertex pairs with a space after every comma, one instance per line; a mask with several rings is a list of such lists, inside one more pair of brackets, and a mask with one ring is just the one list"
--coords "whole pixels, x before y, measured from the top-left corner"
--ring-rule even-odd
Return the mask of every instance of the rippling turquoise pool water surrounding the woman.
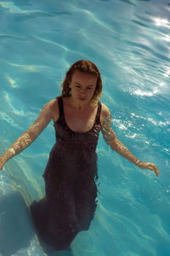
[[169, 28], [166, 0], [0, 2], [0, 153], [60, 94], [68, 67], [89, 59], [100, 69], [117, 137], [160, 168], [156, 177], [133, 166], [99, 137], [95, 218], [71, 252], [50, 253], [37, 241], [27, 206], [44, 195], [51, 122], [0, 174], [3, 256], [170, 255]]

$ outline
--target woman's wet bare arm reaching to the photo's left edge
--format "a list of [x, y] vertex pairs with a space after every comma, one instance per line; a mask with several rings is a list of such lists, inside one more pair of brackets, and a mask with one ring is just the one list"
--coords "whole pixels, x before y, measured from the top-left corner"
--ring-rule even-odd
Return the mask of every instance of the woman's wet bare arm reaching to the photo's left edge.
[[25, 131], [6, 152], [0, 156], [0, 170], [3, 169], [4, 164], [14, 157], [16, 154], [20, 154], [25, 148], [27, 148], [40, 133], [45, 129], [50, 120], [53, 118], [52, 114], [52, 102], [48, 102], [43, 108], [36, 119], [36, 121]]

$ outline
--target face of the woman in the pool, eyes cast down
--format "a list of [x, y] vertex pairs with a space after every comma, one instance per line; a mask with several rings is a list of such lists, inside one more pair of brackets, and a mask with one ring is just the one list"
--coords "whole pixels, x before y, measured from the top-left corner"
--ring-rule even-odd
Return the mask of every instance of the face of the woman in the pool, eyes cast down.
[[75, 71], [71, 78], [71, 96], [78, 102], [88, 102], [94, 96], [97, 76]]

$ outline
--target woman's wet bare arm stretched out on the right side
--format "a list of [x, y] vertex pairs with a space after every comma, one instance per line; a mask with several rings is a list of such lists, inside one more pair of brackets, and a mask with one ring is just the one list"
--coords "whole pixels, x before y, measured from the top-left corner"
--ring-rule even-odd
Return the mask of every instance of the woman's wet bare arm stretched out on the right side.
[[121, 143], [121, 141], [116, 137], [116, 133], [111, 128], [111, 113], [109, 108], [102, 104], [102, 114], [101, 114], [101, 125], [102, 133], [105, 142], [111, 146], [116, 153], [121, 154], [122, 157], [131, 161], [134, 165], [139, 166], [142, 169], [149, 169], [150, 171], [156, 172], [156, 176], [159, 176], [159, 169], [156, 165], [150, 162], [143, 162], [139, 160], [135, 155], [133, 155], [128, 148]]

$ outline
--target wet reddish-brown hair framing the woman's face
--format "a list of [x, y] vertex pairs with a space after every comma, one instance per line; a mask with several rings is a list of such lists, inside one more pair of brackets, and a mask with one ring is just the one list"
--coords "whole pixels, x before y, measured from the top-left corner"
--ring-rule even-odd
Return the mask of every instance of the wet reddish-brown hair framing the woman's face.
[[96, 83], [96, 88], [94, 90], [93, 98], [98, 99], [99, 97], [101, 97], [102, 80], [99, 73], [99, 69], [98, 67], [95, 66], [93, 62], [84, 61], [84, 60], [75, 62], [65, 74], [65, 80], [61, 84], [62, 96], [71, 95], [71, 88], [69, 87], [69, 84], [71, 83], [72, 75], [73, 73], [75, 73], [76, 70], [82, 73], [87, 73], [87, 74], [92, 74], [94, 76], [97, 76], [97, 83]]

